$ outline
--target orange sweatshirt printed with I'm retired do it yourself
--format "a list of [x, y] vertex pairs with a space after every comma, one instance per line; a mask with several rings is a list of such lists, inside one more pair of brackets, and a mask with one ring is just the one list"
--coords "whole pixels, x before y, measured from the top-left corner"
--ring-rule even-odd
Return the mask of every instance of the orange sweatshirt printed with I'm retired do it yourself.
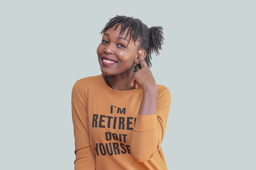
[[74, 84], [75, 170], [167, 170], [161, 143], [171, 94], [157, 86], [157, 113], [141, 116], [140, 87], [113, 90], [102, 74]]

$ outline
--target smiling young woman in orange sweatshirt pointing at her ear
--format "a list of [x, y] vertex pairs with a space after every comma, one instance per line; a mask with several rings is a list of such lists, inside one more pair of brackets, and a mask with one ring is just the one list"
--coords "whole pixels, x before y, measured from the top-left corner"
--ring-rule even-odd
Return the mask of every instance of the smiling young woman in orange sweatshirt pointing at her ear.
[[75, 170], [167, 170], [161, 143], [171, 94], [150, 71], [162, 27], [117, 15], [101, 34], [102, 74], [72, 89]]

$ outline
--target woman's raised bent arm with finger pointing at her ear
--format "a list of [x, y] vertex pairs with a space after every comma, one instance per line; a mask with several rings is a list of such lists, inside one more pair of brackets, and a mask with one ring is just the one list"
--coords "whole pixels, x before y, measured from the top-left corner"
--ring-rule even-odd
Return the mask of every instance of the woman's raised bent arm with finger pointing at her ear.
[[171, 94], [168, 88], [159, 86], [146, 64], [143, 53], [139, 52], [141, 69], [131, 79], [131, 85], [143, 88], [136, 124], [131, 139], [132, 156], [139, 162], [147, 161], [158, 152], [167, 124]]

